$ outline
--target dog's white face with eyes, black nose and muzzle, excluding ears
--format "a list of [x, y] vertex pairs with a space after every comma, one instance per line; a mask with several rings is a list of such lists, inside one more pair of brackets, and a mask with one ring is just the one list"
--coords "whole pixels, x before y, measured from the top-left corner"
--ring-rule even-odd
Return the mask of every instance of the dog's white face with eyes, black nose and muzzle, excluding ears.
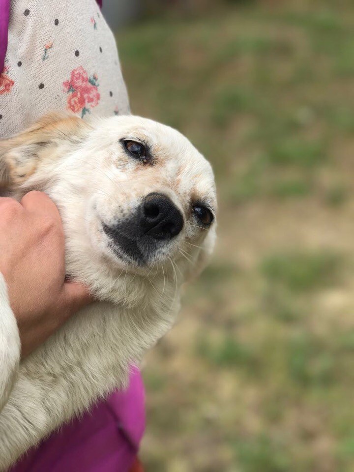
[[150, 270], [193, 259], [196, 246], [211, 244], [213, 173], [184, 136], [148, 119], [120, 117], [105, 120], [90, 139], [99, 143], [87, 207], [93, 245], [119, 266]]

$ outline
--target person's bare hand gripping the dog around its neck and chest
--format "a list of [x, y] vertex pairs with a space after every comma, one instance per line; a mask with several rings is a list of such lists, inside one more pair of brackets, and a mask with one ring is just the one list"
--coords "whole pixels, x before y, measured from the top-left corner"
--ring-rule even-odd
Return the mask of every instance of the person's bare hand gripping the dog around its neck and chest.
[[88, 289], [65, 279], [59, 212], [42, 192], [21, 202], [0, 198], [0, 272], [26, 356], [91, 301]]

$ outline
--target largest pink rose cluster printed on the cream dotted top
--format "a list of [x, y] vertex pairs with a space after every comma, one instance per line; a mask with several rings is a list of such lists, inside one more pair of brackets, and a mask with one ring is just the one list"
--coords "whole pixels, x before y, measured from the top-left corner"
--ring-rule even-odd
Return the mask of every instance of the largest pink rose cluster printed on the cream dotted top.
[[98, 85], [96, 74], [89, 77], [82, 66], [73, 69], [70, 80], [62, 83], [63, 91], [68, 94], [67, 109], [73, 113], [81, 111], [81, 118], [84, 118], [87, 113], [90, 113], [90, 108], [98, 105], [100, 100]]

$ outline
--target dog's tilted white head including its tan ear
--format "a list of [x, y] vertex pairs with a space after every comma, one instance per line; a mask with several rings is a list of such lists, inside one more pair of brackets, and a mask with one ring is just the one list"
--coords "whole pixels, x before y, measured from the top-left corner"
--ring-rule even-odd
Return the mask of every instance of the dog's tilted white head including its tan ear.
[[149, 119], [43, 118], [0, 142], [1, 184], [46, 191], [72, 240], [123, 275], [177, 266], [185, 278], [213, 247], [211, 167], [179, 132]]

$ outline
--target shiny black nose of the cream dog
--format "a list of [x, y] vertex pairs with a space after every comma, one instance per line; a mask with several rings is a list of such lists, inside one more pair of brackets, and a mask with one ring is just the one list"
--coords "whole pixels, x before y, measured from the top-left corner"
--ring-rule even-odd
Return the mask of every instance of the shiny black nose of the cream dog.
[[142, 204], [140, 227], [154, 239], [172, 239], [183, 228], [183, 216], [170, 199], [150, 193]]

